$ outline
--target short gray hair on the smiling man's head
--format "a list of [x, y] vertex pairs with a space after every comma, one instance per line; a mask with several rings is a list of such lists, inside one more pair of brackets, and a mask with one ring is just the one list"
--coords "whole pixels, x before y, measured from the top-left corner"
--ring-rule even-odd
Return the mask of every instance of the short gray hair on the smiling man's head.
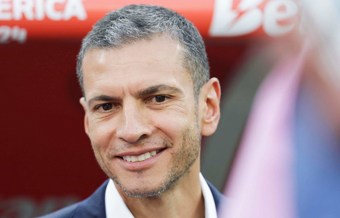
[[196, 99], [209, 80], [209, 64], [203, 39], [197, 28], [171, 9], [154, 5], [128, 5], [109, 12], [99, 20], [82, 41], [77, 58], [77, 76], [83, 87], [82, 63], [90, 48], [119, 49], [139, 41], [166, 35], [183, 47], [183, 66], [193, 79]]

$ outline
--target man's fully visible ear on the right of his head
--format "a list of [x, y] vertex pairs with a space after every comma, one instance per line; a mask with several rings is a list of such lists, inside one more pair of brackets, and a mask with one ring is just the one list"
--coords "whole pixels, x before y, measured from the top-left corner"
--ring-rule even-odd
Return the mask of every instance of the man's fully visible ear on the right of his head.
[[203, 85], [199, 96], [202, 136], [210, 136], [216, 131], [220, 120], [220, 99], [220, 82], [217, 78], [211, 78]]

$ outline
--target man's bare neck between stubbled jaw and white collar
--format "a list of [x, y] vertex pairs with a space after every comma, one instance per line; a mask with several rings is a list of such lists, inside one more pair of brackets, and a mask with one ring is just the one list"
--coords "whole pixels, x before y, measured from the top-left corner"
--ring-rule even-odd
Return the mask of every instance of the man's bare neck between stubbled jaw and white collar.
[[182, 178], [168, 190], [154, 197], [130, 197], [117, 184], [115, 185], [135, 218], [204, 217], [199, 165], [199, 160], [196, 160]]

